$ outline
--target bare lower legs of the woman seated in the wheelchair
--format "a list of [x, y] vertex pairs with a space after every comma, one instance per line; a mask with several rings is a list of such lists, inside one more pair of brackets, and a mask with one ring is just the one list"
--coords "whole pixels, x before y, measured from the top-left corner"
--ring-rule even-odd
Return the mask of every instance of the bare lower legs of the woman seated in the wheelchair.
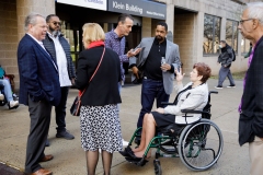
[[155, 137], [155, 133], [156, 133], [156, 120], [152, 114], [147, 114], [145, 115], [144, 126], [142, 126], [144, 138], [141, 136], [141, 140], [140, 140], [140, 142], [142, 142], [144, 145], [139, 147], [138, 150], [135, 151], [135, 155], [137, 158], [142, 158], [148, 144], [150, 143], [151, 139]]

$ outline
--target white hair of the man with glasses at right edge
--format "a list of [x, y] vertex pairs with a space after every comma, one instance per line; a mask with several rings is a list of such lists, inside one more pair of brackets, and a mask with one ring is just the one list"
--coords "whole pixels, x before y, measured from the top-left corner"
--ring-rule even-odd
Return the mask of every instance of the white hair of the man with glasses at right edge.
[[263, 25], [263, 2], [250, 2], [247, 3], [248, 18], [258, 19], [260, 24]]

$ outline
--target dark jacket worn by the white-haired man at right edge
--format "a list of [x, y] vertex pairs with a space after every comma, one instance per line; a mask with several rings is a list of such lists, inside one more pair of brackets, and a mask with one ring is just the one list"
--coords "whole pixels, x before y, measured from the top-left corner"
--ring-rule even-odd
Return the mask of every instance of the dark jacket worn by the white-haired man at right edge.
[[254, 137], [263, 138], [263, 37], [255, 47], [247, 72], [242, 95], [242, 113], [239, 118], [239, 143], [252, 142]]

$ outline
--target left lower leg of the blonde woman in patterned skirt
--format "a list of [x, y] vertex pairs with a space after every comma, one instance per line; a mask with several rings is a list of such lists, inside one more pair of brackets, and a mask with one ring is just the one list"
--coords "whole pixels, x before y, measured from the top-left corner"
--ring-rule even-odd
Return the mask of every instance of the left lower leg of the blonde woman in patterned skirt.
[[85, 151], [88, 175], [95, 175], [95, 168], [99, 161], [99, 151]]

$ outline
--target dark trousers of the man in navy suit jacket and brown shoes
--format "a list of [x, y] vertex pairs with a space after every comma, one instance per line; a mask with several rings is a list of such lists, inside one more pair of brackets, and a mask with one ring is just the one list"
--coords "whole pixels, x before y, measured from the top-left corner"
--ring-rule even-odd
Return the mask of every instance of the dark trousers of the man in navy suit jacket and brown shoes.
[[50, 125], [52, 105], [47, 101], [33, 102], [28, 97], [31, 128], [26, 145], [25, 173], [42, 168], [39, 160], [45, 156], [45, 143]]

